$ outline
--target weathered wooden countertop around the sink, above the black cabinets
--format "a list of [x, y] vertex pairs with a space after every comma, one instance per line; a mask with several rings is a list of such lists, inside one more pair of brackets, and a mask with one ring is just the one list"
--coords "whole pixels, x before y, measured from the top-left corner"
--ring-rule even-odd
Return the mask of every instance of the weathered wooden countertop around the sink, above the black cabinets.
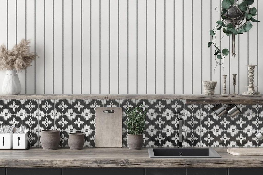
[[215, 150], [222, 158], [149, 158], [147, 148], [0, 150], [0, 167], [263, 167], [263, 156], [234, 156], [227, 148]]

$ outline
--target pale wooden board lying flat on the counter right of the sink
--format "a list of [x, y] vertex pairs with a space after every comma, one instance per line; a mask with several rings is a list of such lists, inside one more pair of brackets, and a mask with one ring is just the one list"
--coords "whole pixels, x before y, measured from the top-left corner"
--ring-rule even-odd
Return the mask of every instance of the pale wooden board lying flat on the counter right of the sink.
[[227, 152], [236, 156], [262, 156], [263, 148], [229, 148]]

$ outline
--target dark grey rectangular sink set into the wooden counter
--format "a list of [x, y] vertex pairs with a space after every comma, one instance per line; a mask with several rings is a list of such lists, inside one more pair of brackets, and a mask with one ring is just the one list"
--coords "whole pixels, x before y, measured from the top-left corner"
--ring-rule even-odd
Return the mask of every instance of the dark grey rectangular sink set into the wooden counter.
[[149, 148], [150, 158], [222, 158], [213, 148]]

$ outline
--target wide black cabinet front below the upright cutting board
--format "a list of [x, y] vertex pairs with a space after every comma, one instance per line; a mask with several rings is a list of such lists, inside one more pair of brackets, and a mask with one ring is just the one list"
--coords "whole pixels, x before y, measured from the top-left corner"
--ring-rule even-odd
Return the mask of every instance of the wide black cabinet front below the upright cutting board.
[[144, 175], [143, 168], [62, 168], [62, 175]]

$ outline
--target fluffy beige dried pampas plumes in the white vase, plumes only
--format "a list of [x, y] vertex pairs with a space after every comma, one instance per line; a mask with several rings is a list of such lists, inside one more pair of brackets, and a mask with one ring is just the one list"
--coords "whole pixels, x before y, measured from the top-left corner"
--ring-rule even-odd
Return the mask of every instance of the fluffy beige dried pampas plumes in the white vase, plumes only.
[[21, 71], [31, 66], [38, 55], [29, 51], [29, 44], [29, 40], [22, 39], [12, 50], [7, 50], [5, 45], [0, 46], [0, 70]]

